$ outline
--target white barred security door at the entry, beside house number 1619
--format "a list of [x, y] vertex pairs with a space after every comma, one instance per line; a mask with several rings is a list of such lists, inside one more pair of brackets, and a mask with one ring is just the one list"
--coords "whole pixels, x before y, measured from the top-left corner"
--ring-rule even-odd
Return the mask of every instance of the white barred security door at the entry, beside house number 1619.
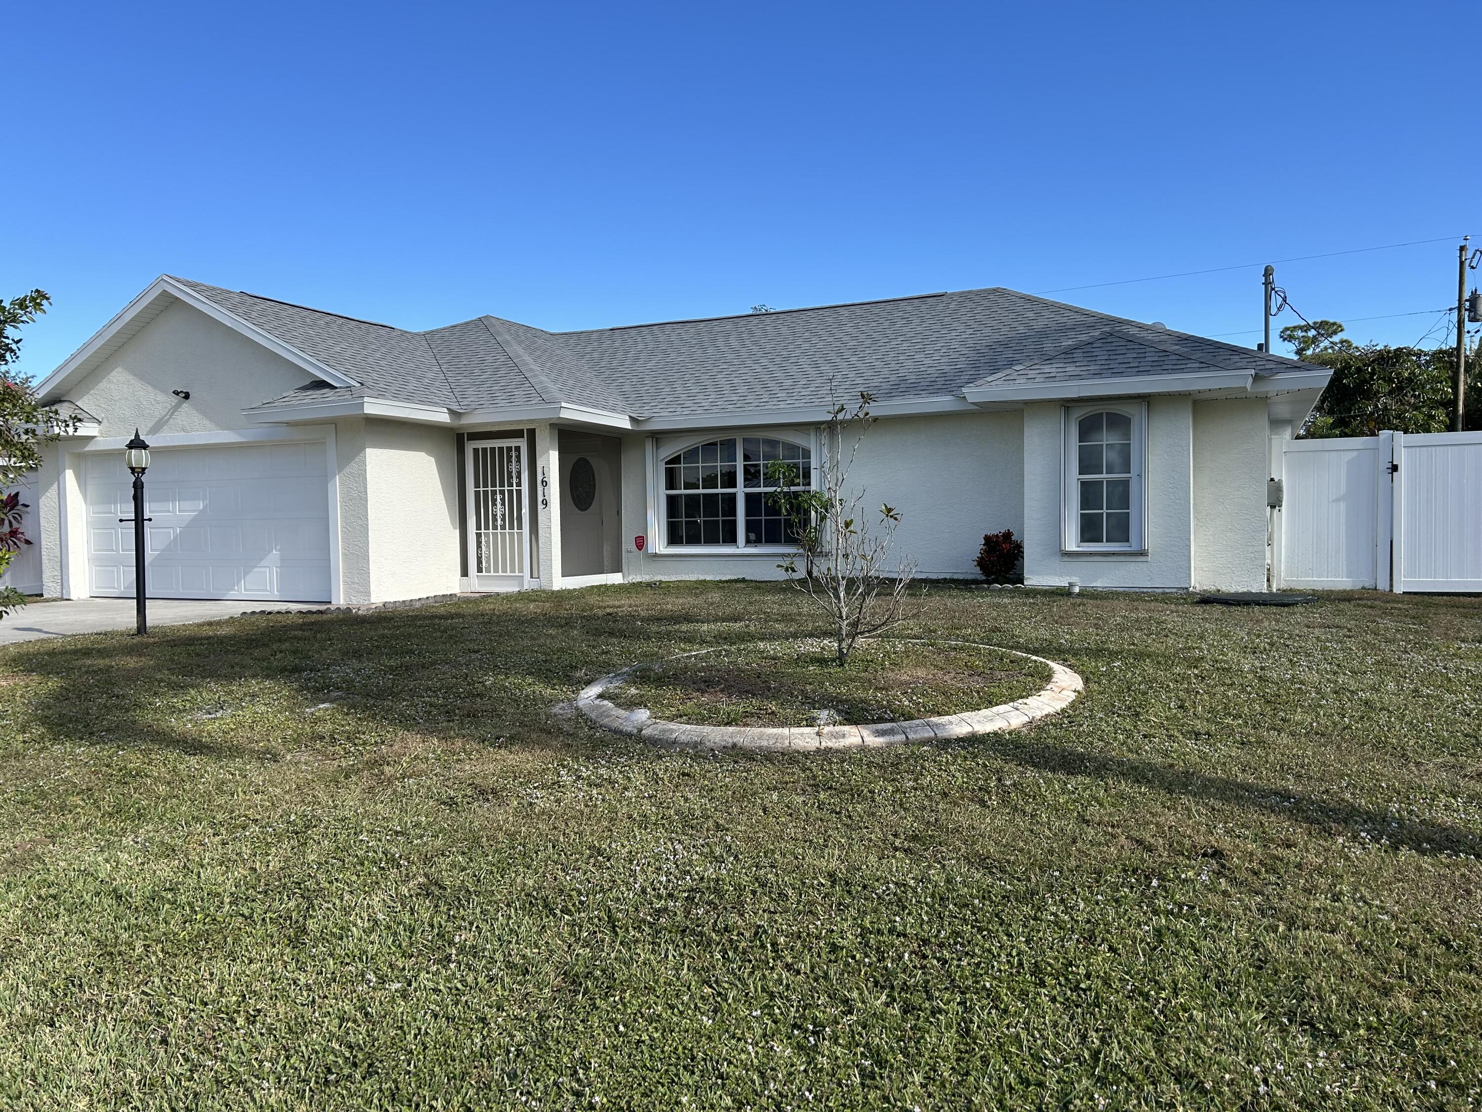
[[523, 440], [468, 443], [468, 575], [474, 590], [529, 586]]

